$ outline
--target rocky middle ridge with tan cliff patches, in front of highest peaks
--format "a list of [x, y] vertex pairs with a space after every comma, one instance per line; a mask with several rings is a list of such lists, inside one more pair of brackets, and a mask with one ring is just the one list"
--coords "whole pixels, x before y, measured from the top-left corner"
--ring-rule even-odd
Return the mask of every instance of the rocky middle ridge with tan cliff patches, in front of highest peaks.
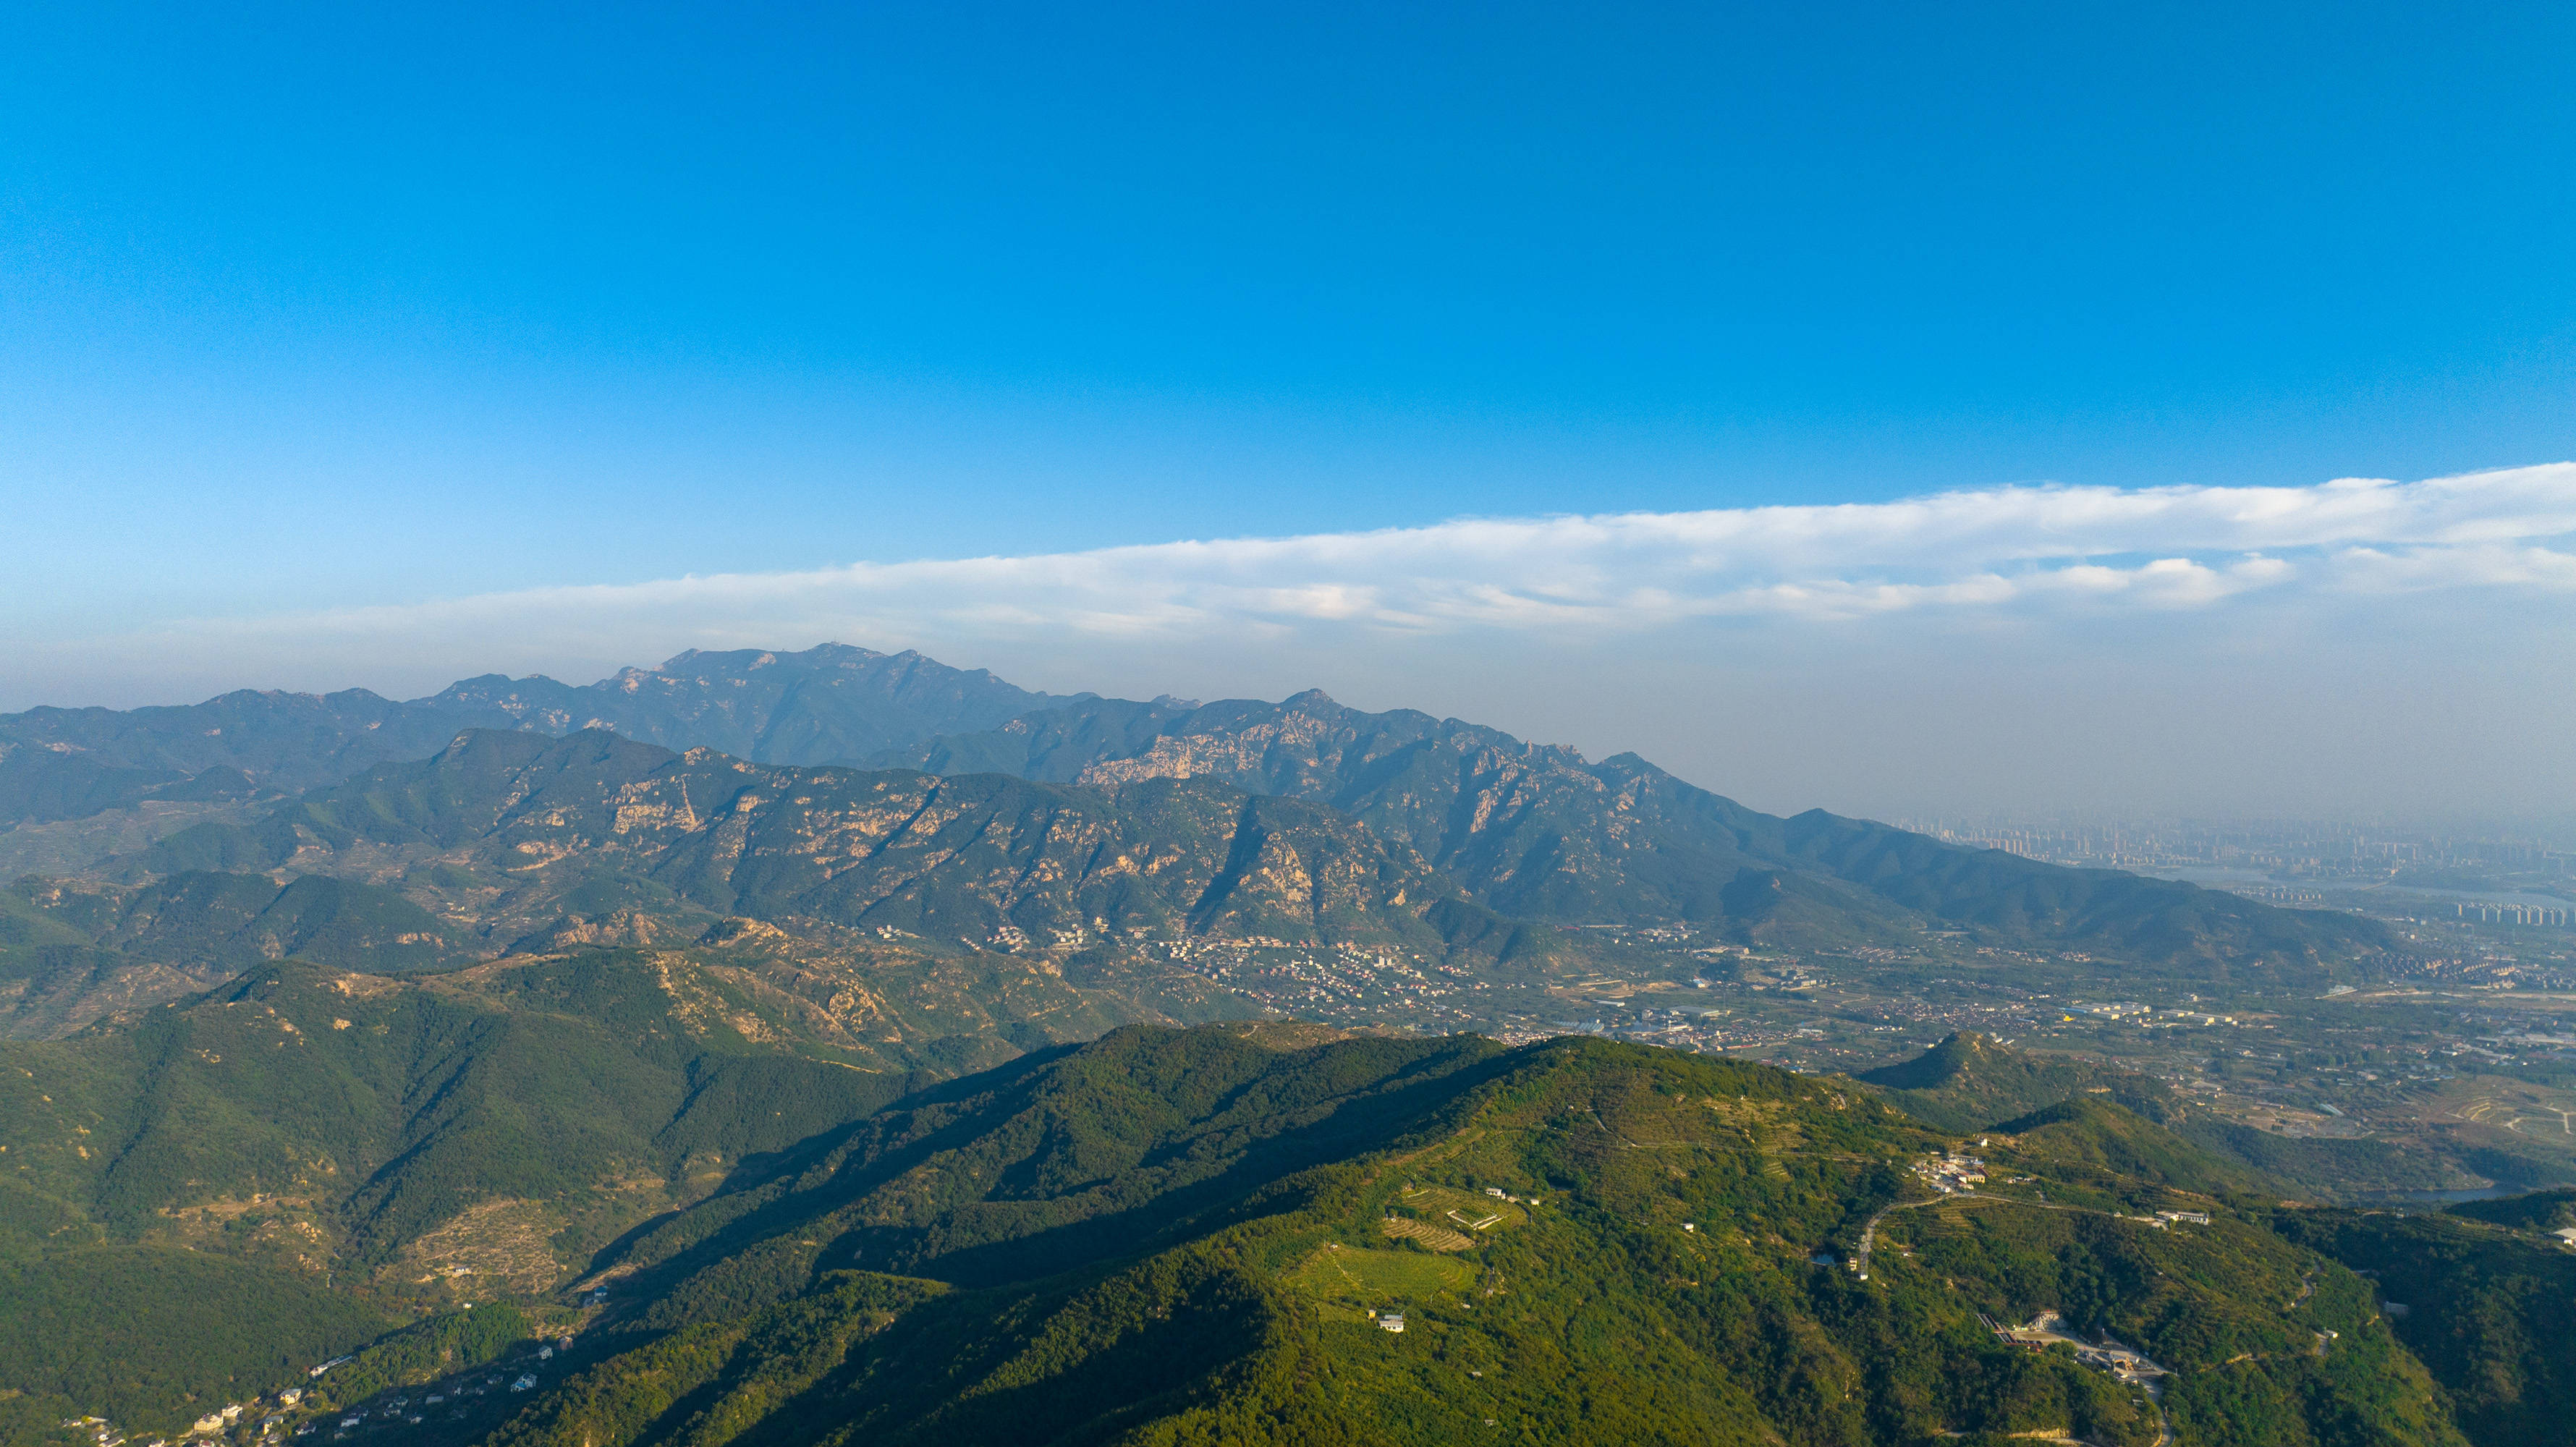
[[[1144, 929], [1443, 950], [1507, 935], [1412, 850], [1334, 808], [1218, 780], [1105, 796], [1002, 775], [770, 767], [603, 731], [469, 731], [435, 760], [317, 790], [258, 829], [185, 832], [162, 850], [304, 870], [371, 852], [515, 875], [520, 909], [556, 875], [554, 888], [598, 891], [595, 875], [613, 870], [629, 893], [659, 896], [659, 914], [969, 945], [1079, 948]], [[634, 914], [559, 909], [536, 924], [523, 948], [657, 942]]]

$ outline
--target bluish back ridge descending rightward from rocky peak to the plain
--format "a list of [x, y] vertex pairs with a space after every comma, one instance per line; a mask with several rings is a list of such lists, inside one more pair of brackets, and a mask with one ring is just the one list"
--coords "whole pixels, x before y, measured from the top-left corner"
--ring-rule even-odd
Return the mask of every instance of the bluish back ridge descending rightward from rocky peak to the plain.
[[[1636, 754], [1564, 747], [1321, 693], [1283, 703], [1082, 700], [997, 731], [930, 739], [878, 765], [1123, 788], [1213, 778], [1329, 803], [1530, 919], [1690, 919], [1744, 937], [1875, 937], [1940, 919], [1996, 935], [2311, 973], [2383, 945], [2375, 927], [2231, 893], [1963, 850], [1824, 811], [1777, 819]], [[1904, 924], [1911, 927], [1911, 924]]]

